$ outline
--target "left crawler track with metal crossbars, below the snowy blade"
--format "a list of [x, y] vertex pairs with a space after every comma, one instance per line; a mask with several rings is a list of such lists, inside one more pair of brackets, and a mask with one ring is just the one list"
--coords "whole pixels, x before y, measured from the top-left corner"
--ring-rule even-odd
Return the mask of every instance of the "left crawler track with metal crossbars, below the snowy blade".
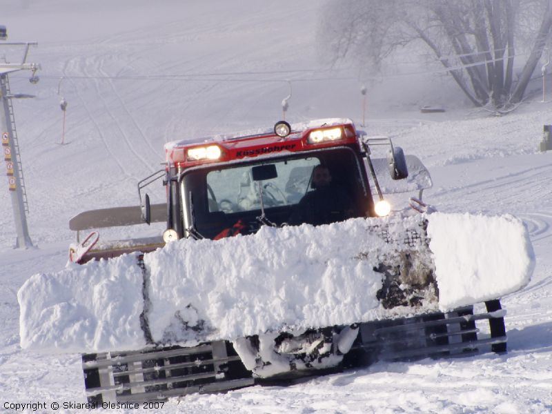
[[83, 355], [89, 402], [164, 400], [226, 391], [254, 380], [229, 342]]

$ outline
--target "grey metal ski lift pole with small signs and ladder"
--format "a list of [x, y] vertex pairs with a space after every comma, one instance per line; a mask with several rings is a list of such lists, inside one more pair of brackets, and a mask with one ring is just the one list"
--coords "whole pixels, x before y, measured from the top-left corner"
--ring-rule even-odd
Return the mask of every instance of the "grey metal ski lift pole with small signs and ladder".
[[[1, 32], [0, 30], [0, 37]], [[32, 242], [27, 227], [27, 195], [23, 180], [23, 168], [21, 167], [21, 160], [19, 159], [19, 144], [17, 142], [17, 131], [15, 129], [12, 98], [28, 98], [32, 97], [32, 95], [12, 94], [10, 92], [8, 74], [17, 72], [18, 70], [31, 70], [32, 76], [30, 77], [30, 82], [37, 83], [38, 77], [35, 73], [39, 70], [40, 65], [26, 62], [29, 46], [35, 45], [37, 45], [37, 43], [0, 43], [0, 46], [25, 46], [25, 54], [23, 55], [21, 63], [0, 62], [0, 96], [3, 104], [3, 110], [0, 111], [0, 128], [2, 128], [2, 150], [4, 161], [6, 161], [8, 186], [12, 197], [13, 215], [15, 228], [17, 230], [16, 248], [30, 248], [32, 247]]]

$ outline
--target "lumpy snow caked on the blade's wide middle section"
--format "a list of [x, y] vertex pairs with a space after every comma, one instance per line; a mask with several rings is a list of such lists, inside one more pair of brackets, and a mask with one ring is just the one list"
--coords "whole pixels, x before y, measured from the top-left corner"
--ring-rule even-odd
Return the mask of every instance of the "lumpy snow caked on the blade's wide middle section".
[[[375, 252], [387, 246], [368, 233], [369, 223], [264, 227], [218, 242], [183, 239], [148, 253], [153, 339], [188, 339], [181, 336], [186, 329], [175, 333], [175, 315], [190, 309], [203, 323], [202, 340], [371, 319], [382, 286]], [[355, 259], [366, 252], [372, 253]]]

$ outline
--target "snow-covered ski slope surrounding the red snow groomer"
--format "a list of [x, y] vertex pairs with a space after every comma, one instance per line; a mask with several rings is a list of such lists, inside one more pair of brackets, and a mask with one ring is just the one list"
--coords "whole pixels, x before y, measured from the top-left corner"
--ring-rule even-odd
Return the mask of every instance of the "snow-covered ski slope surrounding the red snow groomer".
[[[17, 290], [30, 275], [65, 266], [75, 239], [70, 217], [137, 204], [137, 181], [160, 168], [166, 141], [270, 128], [282, 117], [288, 80], [286, 119], [351, 117], [362, 124], [364, 82], [353, 70], [317, 63], [318, 1], [0, 0], [0, 6], [10, 41], [38, 41], [29, 61], [42, 65], [37, 85], [28, 73], [10, 77], [12, 92], [36, 95], [14, 109], [37, 249], [12, 248], [8, 183], [0, 179], [0, 410], [14, 412], [10, 404], [85, 401], [79, 355], [44, 356], [19, 346]], [[5, 53], [9, 61], [22, 55]], [[61, 97], [68, 101], [64, 146], [57, 144]], [[368, 89], [366, 130], [393, 136], [424, 161], [434, 183], [424, 199], [444, 212], [511, 213], [526, 224], [537, 262], [529, 285], [502, 300], [509, 353], [378, 363], [286, 388], [191, 395], [159, 412], [552, 412], [552, 152], [538, 152], [552, 103], [540, 99], [507, 117], [489, 117], [464, 107], [441, 78], [397, 77]], [[447, 112], [420, 113], [433, 102], [444, 102]], [[152, 201], [162, 197], [159, 189]], [[161, 228], [104, 236], [135, 230], [157, 235]]]

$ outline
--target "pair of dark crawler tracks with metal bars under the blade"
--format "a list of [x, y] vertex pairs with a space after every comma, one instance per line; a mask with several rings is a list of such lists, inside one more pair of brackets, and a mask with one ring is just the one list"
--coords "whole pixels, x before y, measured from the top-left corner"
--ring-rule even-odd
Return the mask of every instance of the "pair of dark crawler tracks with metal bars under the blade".
[[[504, 312], [500, 302], [486, 302], [486, 313], [473, 307], [449, 313], [365, 322], [342, 364], [324, 373], [368, 366], [377, 361], [413, 360], [424, 357], [462, 357], [506, 351]], [[489, 329], [478, 324], [488, 322]], [[339, 330], [342, 327], [338, 327]], [[482, 334], [482, 331], [490, 331]], [[286, 384], [319, 371], [296, 371], [277, 380], [258, 380], [248, 371], [228, 341], [182, 348], [87, 354], [82, 366], [88, 402], [142, 402], [166, 400], [191, 393], [219, 393], [255, 384]]]

